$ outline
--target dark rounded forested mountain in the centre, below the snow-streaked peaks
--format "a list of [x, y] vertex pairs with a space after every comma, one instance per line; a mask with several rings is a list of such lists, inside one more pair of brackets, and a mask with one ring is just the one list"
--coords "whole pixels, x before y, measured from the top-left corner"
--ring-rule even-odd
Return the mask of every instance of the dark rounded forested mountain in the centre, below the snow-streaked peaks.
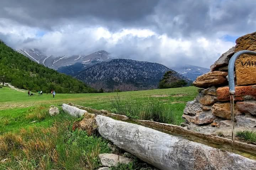
[[[156, 89], [168, 67], [150, 62], [115, 59], [91, 66], [76, 75], [90, 86], [121, 91]], [[172, 71], [172, 70], [171, 70]], [[175, 76], [182, 77], [173, 71]]]

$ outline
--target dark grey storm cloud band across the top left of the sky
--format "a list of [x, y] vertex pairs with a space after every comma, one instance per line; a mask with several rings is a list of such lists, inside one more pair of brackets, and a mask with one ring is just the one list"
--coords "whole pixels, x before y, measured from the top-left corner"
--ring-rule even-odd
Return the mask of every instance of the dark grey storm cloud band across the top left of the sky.
[[0, 16], [31, 27], [50, 29], [58, 24], [127, 24], [143, 21], [153, 13], [157, 1], [1, 1]]

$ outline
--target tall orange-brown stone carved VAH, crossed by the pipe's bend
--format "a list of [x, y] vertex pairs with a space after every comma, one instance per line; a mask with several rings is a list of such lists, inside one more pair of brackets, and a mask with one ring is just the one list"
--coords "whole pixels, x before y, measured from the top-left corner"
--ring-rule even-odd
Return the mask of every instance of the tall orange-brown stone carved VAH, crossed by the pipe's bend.
[[[235, 52], [240, 50], [256, 51], [256, 32], [242, 36], [236, 40]], [[236, 83], [240, 85], [256, 84], [256, 56], [242, 55], [237, 58]]]

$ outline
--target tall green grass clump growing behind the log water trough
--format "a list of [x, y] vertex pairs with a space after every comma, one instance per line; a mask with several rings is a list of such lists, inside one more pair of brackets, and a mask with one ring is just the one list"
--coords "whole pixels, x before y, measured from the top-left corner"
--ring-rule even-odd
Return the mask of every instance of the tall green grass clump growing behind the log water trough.
[[161, 123], [176, 124], [175, 109], [171, 109], [163, 101], [143, 100], [142, 103], [129, 103], [117, 95], [112, 100], [112, 112], [126, 115], [133, 119], [151, 120]]

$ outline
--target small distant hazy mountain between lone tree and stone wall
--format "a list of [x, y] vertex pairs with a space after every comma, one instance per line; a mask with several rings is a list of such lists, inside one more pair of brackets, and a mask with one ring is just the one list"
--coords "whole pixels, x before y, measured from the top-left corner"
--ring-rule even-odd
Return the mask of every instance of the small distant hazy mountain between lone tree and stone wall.
[[210, 69], [206, 69], [204, 67], [198, 67], [195, 65], [177, 66], [177, 67], [172, 67], [172, 69], [192, 81], [195, 81], [198, 76], [203, 75], [210, 71]]

